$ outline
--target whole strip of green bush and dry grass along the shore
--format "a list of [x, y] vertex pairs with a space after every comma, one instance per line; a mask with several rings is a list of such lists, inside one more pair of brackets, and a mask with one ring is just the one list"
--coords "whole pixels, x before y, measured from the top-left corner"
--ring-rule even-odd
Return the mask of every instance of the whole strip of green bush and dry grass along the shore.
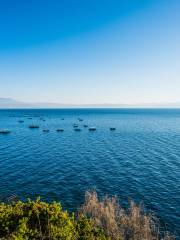
[[0, 203], [0, 239], [60, 240], [170, 240], [160, 231], [156, 218], [130, 202], [123, 209], [116, 197], [99, 199], [88, 191], [77, 213], [68, 213], [60, 203], [40, 199]]

